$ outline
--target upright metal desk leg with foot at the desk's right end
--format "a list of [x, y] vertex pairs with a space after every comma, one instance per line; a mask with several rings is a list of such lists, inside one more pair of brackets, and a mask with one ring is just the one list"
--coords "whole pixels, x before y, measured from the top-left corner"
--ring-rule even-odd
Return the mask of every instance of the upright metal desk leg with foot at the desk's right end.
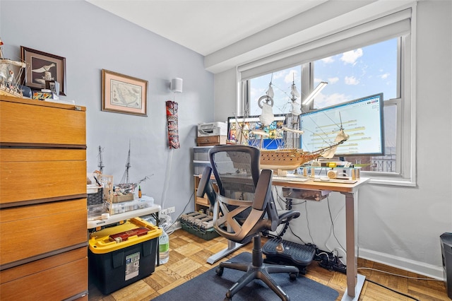
[[[345, 195], [345, 235], [347, 247], [347, 290], [342, 300], [358, 300], [364, 285], [365, 276], [358, 275], [357, 271], [357, 209], [358, 196], [350, 192], [341, 192]], [[356, 200], [355, 200], [356, 196]]]

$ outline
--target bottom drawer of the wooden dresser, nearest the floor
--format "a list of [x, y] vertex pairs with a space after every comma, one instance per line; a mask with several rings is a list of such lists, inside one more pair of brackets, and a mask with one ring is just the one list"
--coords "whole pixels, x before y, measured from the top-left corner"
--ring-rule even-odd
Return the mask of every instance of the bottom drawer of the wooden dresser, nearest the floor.
[[87, 247], [0, 271], [1, 300], [65, 300], [88, 293]]

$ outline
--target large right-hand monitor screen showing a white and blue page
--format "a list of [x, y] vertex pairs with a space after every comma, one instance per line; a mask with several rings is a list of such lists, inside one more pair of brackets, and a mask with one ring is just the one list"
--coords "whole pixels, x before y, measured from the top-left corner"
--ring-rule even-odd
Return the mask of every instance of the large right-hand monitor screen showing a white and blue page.
[[302, 114], [300, 126], [305, 151], [325, 147], [323, 137], [333, 141], [343, 126], [350, 138], [338, 146], [336, 156], [384, 155], [383, 93]]

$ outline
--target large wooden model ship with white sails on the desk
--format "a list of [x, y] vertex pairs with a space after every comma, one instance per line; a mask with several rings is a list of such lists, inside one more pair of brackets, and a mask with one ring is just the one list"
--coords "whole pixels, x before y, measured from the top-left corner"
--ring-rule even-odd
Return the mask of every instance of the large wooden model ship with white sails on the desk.
[[[318, 93], [319, 91], [317, 91]], [[258, 105], [262, 109], [262, 114], [259, 117], [263, 126], [270, 125], [273, 120], [273, 88], [272, 83], [268, 87], [266, 95], [263, 95], [258, 100]], [[287, 124], [290, 126], [280, 126], [278, 128], [279, 131], [285, 131], [285, 143], [282, 146], [279, 146], [277, 149], [266, 149], [262, 146], [262, 141], [264, 137], [268, 137], [268, 133], [265, 131], [251, 131], [251, 134], [261, 136], [261, 168], [270, 169], [270, 170], [296, 170], [298, 167], [302, 166], [304, 163], [308, 163], [309, 161], [316, 160], [320, 157], [323, 158], [333, 158], [335, 155], [335, 151], [338, 146], [349, 138], [349, 135], [345, 134], [342, 125], [338, 133], [335, 136], [334, 141], [328, 143], [328, 146], [323, 148], [319, 148], [316, 151], [303, 151], [300, 148], [296, 148], [294, 141], [297, 141], [299, 135], [303, 134], [303, 131], [298, 129], [298, 116], [302, 114], [301, 107], [302, 105], [297, 102], [297, 98], [299, 98], [299, 93], [295, 86], [295, 81], [292, 82], [292, 89], [290, 92], [290, 100], [292, 101], [292, 110], [290, 111], [290, 116], [287, 117]], [[311, 96], [311, 95], [310, 95]], [[314, 97], [314, 95], [312, 95]], [[237, 126], [238, 128], [240, 126]], [[242, 126], [243, 129], [243, 126]], [[287, 144], [288, 134], [292, 135], [292, 147], [289, 147]], [[324, 139], [325, 141], [326, 139]]]

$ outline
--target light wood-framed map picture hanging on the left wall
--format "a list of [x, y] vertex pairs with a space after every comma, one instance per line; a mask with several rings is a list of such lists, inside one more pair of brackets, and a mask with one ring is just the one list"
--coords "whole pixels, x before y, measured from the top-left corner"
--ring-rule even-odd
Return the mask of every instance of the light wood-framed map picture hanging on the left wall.
[[148, 81], [102, 69], [102, 111], [148, 116]]

